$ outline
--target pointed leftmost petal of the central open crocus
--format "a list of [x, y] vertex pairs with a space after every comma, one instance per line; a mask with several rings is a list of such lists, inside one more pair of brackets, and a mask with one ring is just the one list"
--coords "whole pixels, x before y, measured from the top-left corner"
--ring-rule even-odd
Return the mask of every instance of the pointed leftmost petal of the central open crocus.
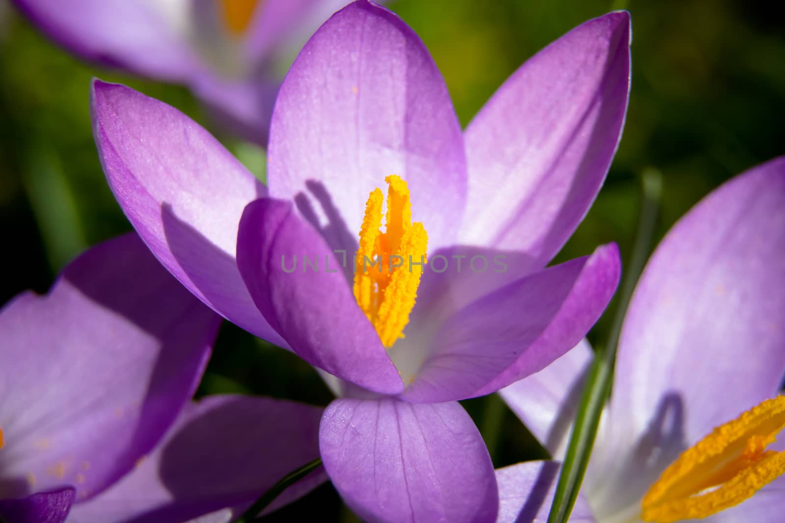
[[218, 314], [285, 346], [254, 306], [235, 260], [243, 208], [265, 187], [173, 107], [99, 80], [91, 103], [109, 186], [155, 257]]

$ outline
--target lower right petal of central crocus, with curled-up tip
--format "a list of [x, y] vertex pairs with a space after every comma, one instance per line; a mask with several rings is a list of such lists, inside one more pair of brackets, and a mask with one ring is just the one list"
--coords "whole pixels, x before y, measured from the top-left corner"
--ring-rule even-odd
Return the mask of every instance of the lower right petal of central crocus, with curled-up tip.
[[549, 267], [476, 300], [436, 332], [433, 349], [404, 397], [471, 398], [544, 369], [586, 336], [608, 306], [620, 272], [619, 249], [602, 245], [592, 256]]

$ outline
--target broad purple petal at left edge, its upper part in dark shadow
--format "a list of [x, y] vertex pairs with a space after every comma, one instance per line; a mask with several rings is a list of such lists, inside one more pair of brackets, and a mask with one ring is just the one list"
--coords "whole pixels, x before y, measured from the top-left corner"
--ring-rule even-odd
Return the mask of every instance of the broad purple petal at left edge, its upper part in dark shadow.
[[0, 314], [0, 491], [81, 500], [126, 474], [193, 394], [219, 323], [136, 234], [17, 296]]

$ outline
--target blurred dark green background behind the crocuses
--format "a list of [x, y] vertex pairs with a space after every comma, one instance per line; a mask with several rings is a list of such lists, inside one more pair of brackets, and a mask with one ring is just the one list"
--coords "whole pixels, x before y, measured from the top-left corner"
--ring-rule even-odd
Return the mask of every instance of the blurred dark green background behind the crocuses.
[[[633, 19], [633, 87], [623, 140], [608, 181], [558, 260], [618, 242], [629, 260], [641, 175], [659, 171], [654, 242], [700, 198], [737, 173], [783, 154], [785, 16], [779, 2], [660, 0], [400, 0], [390, 2], [425, 41], [462, 124], [529, 56], [612, 9]], [[89, 124], [93, 76], [122, 82], [209, 125], [186, 89], [84, 64], [38, 34], [0, 0], [0, 227], [5, 245], [0, 303], [46, 292], [82, 249], [130, 231], [104, 181]], [[254, 171], [264, 151], [219, 136]], [[655, 243], [652, 243], [652, 247]], [[613, 307], [613, 306], [612, 306]], [[590, 334], [601, 342], [612, 309]], [[308, 365], [226, 324], [199, 394], [246, 392], [327, 405]], [[464, 402], [497, 467], [546, 456], [495, 396]], [[356, 521], [330, 485], [270, 521]]]

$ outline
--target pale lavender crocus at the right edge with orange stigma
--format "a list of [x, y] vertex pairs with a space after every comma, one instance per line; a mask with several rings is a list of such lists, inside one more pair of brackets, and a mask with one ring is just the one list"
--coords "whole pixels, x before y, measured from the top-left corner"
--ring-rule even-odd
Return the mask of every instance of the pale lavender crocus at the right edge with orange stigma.
[[[596, 521], [782, 521], [785, 479], [772, 480], [785, 454], [765, 448], [785, 426], [783, 251], [785, 158], [709, 194], [656, 249], [624, 319], [583, 483]], [[502, 391], [554, 458], [590, 354], [584, 343]], [[507, 491], [542, 480], [531, 472], [542, 463], [516, 467]]]

